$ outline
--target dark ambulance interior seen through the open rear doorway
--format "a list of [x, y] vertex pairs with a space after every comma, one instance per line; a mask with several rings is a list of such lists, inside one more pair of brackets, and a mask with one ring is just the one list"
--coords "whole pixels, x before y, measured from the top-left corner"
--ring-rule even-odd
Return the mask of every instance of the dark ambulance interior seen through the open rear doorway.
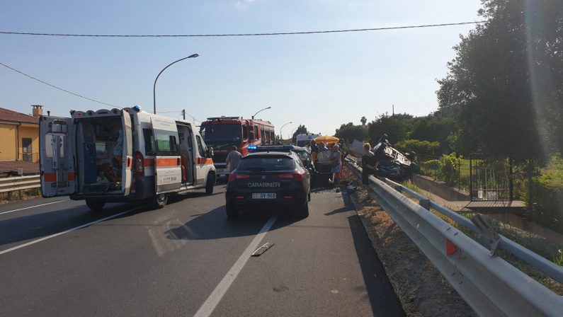
[[120, 116], [80, 120], [76, 131], [79, 192], [122, 190], [123, 123]]

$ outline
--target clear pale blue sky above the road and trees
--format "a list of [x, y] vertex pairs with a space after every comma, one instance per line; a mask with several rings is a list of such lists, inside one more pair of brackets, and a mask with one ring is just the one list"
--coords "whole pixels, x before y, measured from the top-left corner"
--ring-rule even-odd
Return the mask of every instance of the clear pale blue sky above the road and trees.
[[[89, 34], [268, 33], [479, 21], [479, 0], [4, 0], [0, 30]], [[334, 134], [380, 113], [426, 115], [474, 25], [254, 38], [52, 38], [0, 35], [0, 62], [106, 103], [152, 111], [259, 117]], [[0, 107], [51, 115], [109, 108], [0, 67]], [[176, 114], [169, 114], [175, 116]], [[178, 115], [180, 115], [178, 113]]]

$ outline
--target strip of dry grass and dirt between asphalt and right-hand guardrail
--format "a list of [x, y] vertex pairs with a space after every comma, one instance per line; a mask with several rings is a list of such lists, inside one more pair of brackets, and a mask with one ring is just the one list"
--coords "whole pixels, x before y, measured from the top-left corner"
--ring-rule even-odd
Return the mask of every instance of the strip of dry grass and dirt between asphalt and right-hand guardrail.
[[345, 179], [357, 186], [351, 200], [370, 236], [406, 316], [475, 316], [436, 267], [372, 200], [345, 169]]

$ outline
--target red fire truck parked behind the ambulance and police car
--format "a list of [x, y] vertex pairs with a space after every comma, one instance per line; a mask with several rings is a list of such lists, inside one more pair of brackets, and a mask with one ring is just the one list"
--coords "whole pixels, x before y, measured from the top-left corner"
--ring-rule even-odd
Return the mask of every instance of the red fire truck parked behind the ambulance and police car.
[[208, 117], [201, 123], [200, 133], [205, 144], [213, 148], [213, 162], [217, 175], [228, 175], [227, 154], [237, 146], [244, 156], [249, 145], [275, 144], [274, 126], [269, 121], [242, 117]]

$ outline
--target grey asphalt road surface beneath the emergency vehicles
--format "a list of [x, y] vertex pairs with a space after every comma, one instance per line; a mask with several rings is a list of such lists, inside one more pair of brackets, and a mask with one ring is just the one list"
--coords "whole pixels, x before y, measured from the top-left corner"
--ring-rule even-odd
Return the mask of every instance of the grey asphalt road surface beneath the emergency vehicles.
[[164, 209], [106, 209], [67, 197], [0, 205], [0, 316], [404, 316], [334, 190], [314, 192], [307, 219], [229, 221], [224, 185]]

